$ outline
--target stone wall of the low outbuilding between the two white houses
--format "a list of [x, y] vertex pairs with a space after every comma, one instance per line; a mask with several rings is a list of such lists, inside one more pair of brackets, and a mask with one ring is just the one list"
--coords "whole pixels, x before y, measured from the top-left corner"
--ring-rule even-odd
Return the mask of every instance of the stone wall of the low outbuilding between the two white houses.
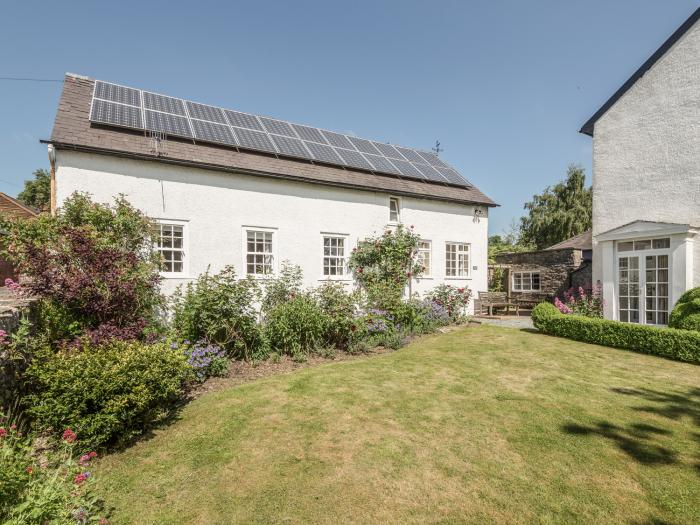
[[[540, 250], [536, 252], [504, 253], [495, 257], [496, 264], [508, 270], [508, 294], [523, 301], [541, 302], [563, 294], [575, 281], [579, 286], [591, 283], [590, 263], [583, 260], [581, 250]], [[587, 270], [586, 270], [587, 269]], [[513, 273], [539, 272], [539, 292], [513, 290]]]

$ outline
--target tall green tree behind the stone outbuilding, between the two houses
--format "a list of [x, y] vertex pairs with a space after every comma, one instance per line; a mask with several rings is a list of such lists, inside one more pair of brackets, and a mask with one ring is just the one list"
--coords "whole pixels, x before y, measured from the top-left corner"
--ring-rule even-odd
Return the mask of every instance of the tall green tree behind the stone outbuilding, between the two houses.
[[566, 180], [545, 188], [525, 204], [520, 219], [520, 243], [541, 250], [589, 230], [592, 226], [593, 191], [586, 186], [580, 166], [569, 166]]

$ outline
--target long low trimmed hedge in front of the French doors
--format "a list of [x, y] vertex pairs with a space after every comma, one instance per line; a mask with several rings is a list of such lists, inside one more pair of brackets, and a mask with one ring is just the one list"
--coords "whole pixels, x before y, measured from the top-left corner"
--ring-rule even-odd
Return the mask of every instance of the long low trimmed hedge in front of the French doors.
[[532, 321], [545, 334], [700, 363], [700, 332], [566, 315], [550, 303], [538, 304]]

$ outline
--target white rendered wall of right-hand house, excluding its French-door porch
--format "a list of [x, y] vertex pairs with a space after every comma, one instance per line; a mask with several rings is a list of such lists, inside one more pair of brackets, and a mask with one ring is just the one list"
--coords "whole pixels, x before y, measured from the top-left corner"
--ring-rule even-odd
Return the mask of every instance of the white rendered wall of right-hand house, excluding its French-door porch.
[[[700, 24], [595, 124], [594, 280], [606, 272], [596, 237], [636, 220], [700, 226]], [[693, 262], [699, 286], [698, 242]]]

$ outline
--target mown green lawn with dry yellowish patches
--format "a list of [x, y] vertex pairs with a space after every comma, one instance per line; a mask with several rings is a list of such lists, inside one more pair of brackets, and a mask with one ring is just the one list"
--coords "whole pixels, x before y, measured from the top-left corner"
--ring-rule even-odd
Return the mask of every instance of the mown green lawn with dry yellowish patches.
[[700, 367], [507, 328], [211, 392], [111, 523], [700, 523]]

